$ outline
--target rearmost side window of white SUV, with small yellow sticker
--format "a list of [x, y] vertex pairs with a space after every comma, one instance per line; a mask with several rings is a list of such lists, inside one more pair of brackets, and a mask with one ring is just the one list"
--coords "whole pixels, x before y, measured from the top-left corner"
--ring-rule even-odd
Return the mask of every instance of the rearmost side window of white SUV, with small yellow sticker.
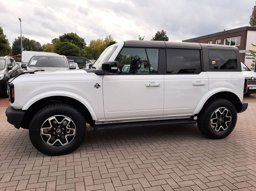
[[209, 50], [209, 68], [211, 70], [237, 69], [236, 52], [232, 50]]

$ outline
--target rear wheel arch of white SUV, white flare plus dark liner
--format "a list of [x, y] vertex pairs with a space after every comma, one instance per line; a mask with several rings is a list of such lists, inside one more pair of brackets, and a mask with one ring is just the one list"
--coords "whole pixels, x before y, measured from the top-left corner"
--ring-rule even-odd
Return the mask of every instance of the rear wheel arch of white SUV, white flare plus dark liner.
[[198, 114], [202, 110], [202, 108], [207, 105], [208, 102], [216, 98], [223, 98], [232, 102], [238, 113], [242, 110], [242, 106], [240, 104], [241, 99], [237, 96], [237, 94], [231, 89], [224, 89], [222, 91], [208, 92], [204, 97], [199, 100], [193, 114]]

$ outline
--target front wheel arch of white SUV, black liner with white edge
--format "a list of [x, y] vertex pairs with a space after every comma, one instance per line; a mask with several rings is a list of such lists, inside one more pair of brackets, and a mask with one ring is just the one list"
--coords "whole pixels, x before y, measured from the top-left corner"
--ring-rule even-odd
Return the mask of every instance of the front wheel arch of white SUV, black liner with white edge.
[[42, 107], [45, 107], [46, 105], [53, 103], [65, 103], [75, 107], [84, 116], [86, 123], [94, 125], [96, 115], [92, 109], [89, 110], [88, 106], [86, 107], [86, 105], [78, 99], [75, 99], [70, 96], [61, 95], [44, 97], [41, 99], [37, 99], [35, 102], [30, 102], [24, 105], [22, 110], [26, 110], [26, 113], [24, 115], [24, 118], [22, 119], [21, 127], [28, 128], [30, 125], [30, 121], [32, 120], [32, 117], [35, 115], [35, 113], [37, 113], [38, 110], [40, 110]]

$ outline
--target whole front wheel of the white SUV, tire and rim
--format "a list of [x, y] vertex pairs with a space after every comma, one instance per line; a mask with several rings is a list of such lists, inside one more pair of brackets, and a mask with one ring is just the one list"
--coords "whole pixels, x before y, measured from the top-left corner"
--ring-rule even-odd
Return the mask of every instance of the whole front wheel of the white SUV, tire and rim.
[[74, 107], [53, 104], [43, 107], [32, 118], [30, 141], [47, 155], [62, 155], [77, 149], [86, 133], [84, 116]]

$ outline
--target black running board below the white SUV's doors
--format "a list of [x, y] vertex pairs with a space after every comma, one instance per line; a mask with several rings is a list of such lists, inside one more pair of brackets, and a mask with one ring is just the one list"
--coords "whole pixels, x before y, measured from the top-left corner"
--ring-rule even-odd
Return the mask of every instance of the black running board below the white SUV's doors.
[[171, 124], [196, 124], [197, 120], [193, 118], [170, 119], [170, 120], [148, 120], [128, 123], [108, 123], [94, 125], [94, 131], [104, 131], [117, 128], [143, 127], [143, 126], [162, 126]]

